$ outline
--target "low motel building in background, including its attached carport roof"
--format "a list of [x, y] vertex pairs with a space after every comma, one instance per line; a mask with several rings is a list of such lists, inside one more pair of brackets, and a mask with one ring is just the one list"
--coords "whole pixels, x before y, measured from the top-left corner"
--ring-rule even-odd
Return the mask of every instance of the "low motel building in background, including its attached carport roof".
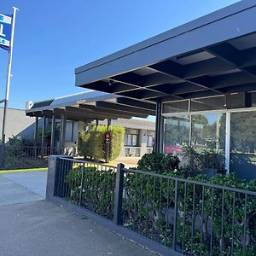
[[[60, 152], [61, 148], [62, 154], [72, 154], [72, 152], [78, 154], [80, 131], [88, 131], [92, 125], [118, 125], [125, 128], [125, 138], [119, 155], [121, 158], [142, 157], [143, 154], [151, 153], [155, 125], [154, 121], [145, 118], [149, 114], [154, 115], [154, 110], [143, 108], [134, 110], [119, 105], [118, 102], [119, 96], [93, 90], [42, 102], [26, 102], [26, 116], [35, 117], [35, 127], [30, 129], [30, 132], [26, 132], [26, 137], [27, 135], [36, 137], [33, 136], [32, 131], [37, 134], [38, 129], [45, 131], [47, 127], [57, 128], [60, 136], [59, 139], [51, 137], [51, 152]], [[123, 106], [122, 111], [118, 110], [119, 106]], [[31, 123], [31, 120], [29, 121]], [[23, 133], [20, 135], [22, 136]], [[41, 142], [36, 143], [43, 143], [44, 147], [44, 137]]]

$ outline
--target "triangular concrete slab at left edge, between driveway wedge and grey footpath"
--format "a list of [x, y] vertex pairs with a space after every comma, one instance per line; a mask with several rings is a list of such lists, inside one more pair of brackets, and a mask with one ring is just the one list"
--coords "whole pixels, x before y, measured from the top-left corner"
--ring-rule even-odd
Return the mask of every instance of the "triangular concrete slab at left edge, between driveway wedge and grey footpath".
[[[7, 177], [0, 175], [0, 206], [43, 200], [44, 197], [33, 193]], [[1, 230], [1, 228], [0, 228]]]

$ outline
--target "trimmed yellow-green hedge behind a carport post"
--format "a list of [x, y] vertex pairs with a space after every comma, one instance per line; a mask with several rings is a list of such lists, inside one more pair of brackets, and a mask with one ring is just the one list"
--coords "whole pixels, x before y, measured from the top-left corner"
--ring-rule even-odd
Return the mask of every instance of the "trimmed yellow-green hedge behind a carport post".
[[[106, 158], [105, 135], [107, 125], [93, 126], [91, 131], [79, 132], [78, 149], [84, 158], [104, 160]], [[122, 148], [125, 136], [125, 128], [121, 126], [110, 126], [110, 154], [109, 160], [116, 159]]]

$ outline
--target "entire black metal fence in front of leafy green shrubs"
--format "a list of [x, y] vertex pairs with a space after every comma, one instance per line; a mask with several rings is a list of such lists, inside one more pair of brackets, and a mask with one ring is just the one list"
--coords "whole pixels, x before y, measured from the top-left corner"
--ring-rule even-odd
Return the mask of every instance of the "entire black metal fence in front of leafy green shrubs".
[[256, 255], [256, 192], [64, 158], [55, 173], [55, 196], [178, 253]]

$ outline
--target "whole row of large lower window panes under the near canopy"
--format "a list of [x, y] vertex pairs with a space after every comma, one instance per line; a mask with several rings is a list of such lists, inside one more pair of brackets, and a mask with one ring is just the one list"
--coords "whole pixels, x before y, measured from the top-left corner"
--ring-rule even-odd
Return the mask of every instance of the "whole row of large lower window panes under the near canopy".
[[[254, 97], [256, 99], [256, 96]], [[191, 103], [192, 110], [195, 107], [199, 109], [201, 104], [207, 106], [215, 104], [214, 101], [209, 100]], [[223, 102], [220, 102], [218, 108], [221, 108], [222, 104]], [[171, 108], [167, 109], [167, 107], [170, 106], [166, 105], [168, 112]], [[256, 111], [244, 109], [240, 112], [232, 109], [230, 112], [192, 112], [173, 114], [173, 116], [171, 112], [164, 113], [166, 116], [164, 152], [182, 155], [183, 145], [189, 143], [198, 152], [212, 148], [219, 153], [220, 159], [223, 160], [222, 166], [225, 166], [227, 171], [236, 172], [238, 177], [247, 180], [256, 179]], [[229, 121], [227, 114], [230, 115], [230, 131], [226, 129], [226, 122]], [[229, 147], [225, 148], [226, 144]]]

